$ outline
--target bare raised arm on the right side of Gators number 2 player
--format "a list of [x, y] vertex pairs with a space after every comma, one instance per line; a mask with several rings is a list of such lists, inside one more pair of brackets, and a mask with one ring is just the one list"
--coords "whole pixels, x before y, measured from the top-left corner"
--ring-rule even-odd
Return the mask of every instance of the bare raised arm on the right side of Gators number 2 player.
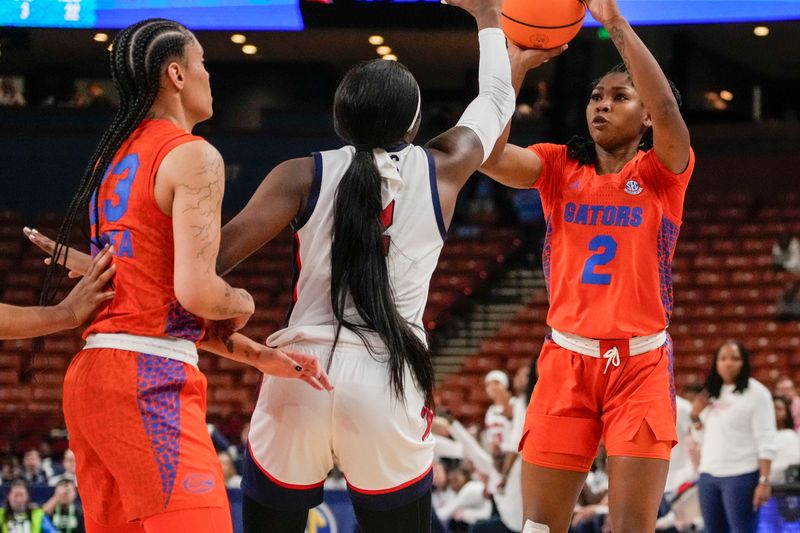
[[656, 157], [675, 174], [689, 164], [689, 129], [658, 62], [622, 16], [616, 0], [587, 0], [592, 16], [611, 36], [653, 122]]

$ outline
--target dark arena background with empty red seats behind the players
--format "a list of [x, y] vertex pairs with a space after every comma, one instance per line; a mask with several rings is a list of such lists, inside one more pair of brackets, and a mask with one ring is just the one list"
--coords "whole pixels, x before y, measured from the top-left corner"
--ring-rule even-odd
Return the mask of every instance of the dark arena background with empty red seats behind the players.
[[[298, 1], [143, 0], [131, 8], [122, 0], [0, 0], [0, 301], [38, 302], [44, 256], [22, 228], [56, 234], [117, 102], [109, 44], [136, 20], [173, 18], [203, 44], [215, 112], [195, 133], [225, 159], [225, 219], [277, 163], [340, 146], [333, 94], [359, 61], [399, 60], [415, 75], [422, 91], [417, 144], [453, 126], [476, 94], [474, 21], [459, 9], [434, 1]], [[696, 153], [672, 274], [669, 333], [678, 395], [697, 394], [717, 347], [736, 339], [750, 351], [752, 376], [800, 407], [794, 387], [800, 382], [800, 1], [619, 4], [680, 90]], [[587, 16], [567, 52], [529, 73], [511, 141], [527, 146], [586, 135], [590, 83], [618, 61], [608, 33]], [[508, 398], [487, 393], [485, 376], [500, 370], [512, 381], [531, 366], [549, 332], [544, 231], [535, 191], [506, 189], [476, 173], [461, 192], [431, 282], [424, 322], [434, 353], [437, 414], [460, 421], [490, 453], [484, 415]], [[289, 233], [227, 279], [253, 294], [256, 312], [244, 332], [263, 341], [280, 327], [292, 300]], [[65, 282], [62, 295], [68, 288]], [[0, 341], [0, 494], [23, 477], [31, 500], [45, 504], [57, 476], [69, 477], [74, 469], [61, 390], [82, 344], [80, 330]], [[260, 374], [206, 353], [199, 366], [208, 378], [209, 431], [241, 530], [236, 468]], [[792, 462], [800, 463], [800, 440], [796, 446]], [[693, 453], [696, 466], [696, 445]], [[454, 474], [460, 466], [467, 467], [469, 483], [484, 482], [463, 452], [437, 456], [444, 468], [435, 491], [443, 498], [462, 488]], [[603, 469], [599, 464], [595, 472]], [[600, 481], [587, 489], [594, 497], [576, 510], [576, 532], [605, 531], [607, 481], [604, 487], [601, 474], [591, 479]], [[800, 531], [800, 468], [785, 468], [771, 483], [758, 531]], [[344, 487], [341, 476], [332, 475], [326, 503], [309, 517], [309, 532], [356, 531]], [[492, 514], [488, 499], [470, 505], [487, 508], [483, 518]], [[470, 531], [469, 513], [461, 511], [441, 517], [446, 531]], [[669, 512], [665, 505], [664, 516]], [[702, 528], [701, 518], [660, 523], [666, 524], [662, 531]]]

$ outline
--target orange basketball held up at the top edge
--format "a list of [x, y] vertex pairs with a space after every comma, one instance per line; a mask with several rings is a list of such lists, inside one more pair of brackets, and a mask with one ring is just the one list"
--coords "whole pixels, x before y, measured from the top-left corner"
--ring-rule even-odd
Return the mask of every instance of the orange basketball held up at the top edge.
[[521, 48], [555, 48], [578, 34], [585, 16], [580, 0], [505, 0], [501, 24]]

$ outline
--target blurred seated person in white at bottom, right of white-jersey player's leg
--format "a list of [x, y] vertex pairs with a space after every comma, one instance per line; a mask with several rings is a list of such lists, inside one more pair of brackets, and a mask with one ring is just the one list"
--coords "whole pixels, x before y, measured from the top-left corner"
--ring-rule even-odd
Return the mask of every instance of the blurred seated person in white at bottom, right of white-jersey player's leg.
[[461, 465], [447, 473], [447, 484], [455, 493], [455, 497], [439, 508], [437, 516], [442, 523], [449, 524], [453, 533], [466, 532], [469, 524], [489, 518], [492, 514], [492, 503], [484, 492], [483, 481], [472, 479], [470, 470]]

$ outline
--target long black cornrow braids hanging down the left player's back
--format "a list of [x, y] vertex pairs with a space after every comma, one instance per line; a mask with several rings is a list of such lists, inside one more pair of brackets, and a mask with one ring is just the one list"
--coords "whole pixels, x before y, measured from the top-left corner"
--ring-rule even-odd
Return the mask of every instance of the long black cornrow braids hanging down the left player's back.
[[147, 116], [158, 95], [164, 66], [185, 57], [186, 46], [194, 35], [183, 25], [167, 19], [147, 19], [122, 30], [111, 46], [111, 77], [119, 94], [119, 109], [106, 128], [97, 148], [83, 171], [78, 191], [56, 237], [56, 246], [45, 274], [41, 305], [55, 299], [64, 270], [56, 265], [57, 257], [68, 252], [76, 221], [83, 220], [91, 203], [94, 233], [92, 243], [101, 248], [100, 217], [97, 193], [106, 170], [125, 140]]

